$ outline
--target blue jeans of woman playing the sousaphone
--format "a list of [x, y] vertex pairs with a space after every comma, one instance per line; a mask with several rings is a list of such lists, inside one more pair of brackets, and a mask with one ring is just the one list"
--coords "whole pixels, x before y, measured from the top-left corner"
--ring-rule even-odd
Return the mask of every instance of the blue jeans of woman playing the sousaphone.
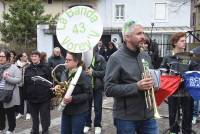
[[64, 115], [61, 119], [61, 134], [83, 134], [87, 112], [76, 115]]

